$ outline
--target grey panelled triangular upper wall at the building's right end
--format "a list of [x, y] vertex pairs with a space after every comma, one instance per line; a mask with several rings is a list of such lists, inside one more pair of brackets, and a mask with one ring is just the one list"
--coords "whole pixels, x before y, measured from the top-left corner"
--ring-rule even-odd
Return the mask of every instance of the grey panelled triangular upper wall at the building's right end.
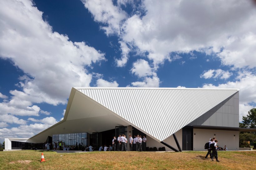
[[189, 125], [239, 127], [239, 91]]

